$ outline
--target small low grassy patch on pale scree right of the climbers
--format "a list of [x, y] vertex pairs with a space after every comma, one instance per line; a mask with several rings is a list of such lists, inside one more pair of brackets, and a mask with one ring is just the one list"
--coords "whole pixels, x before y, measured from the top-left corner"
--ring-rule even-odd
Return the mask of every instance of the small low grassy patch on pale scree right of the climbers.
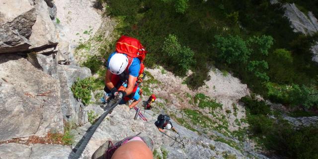
[[197, 93], [194, 96], [194, 103], [198, 103], [199, 108], [208, 107], [210, 110], [215, 110], [217, 108], [222, 108], [223, 104], [216, 101], [216, 99], [211, 99], [203, 93]]

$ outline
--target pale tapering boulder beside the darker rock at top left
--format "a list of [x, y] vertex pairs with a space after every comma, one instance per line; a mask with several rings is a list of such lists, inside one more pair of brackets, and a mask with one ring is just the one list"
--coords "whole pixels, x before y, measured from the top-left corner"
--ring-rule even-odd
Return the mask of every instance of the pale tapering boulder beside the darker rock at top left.
[[35, 50], [47, 46], [56, 46], [58, 44], [58, 34], [50, 18], [48, 5], [44, 0], [36, 0], [35, 3], [38, 15], [32, 26], [29, 49]]

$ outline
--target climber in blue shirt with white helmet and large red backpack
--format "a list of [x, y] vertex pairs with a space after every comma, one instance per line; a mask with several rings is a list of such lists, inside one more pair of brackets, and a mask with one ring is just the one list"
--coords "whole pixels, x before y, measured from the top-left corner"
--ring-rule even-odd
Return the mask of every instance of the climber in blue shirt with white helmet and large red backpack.
[[[124, 35], [118, 39], [116, 51], [107, 61], [104, 87], [106, 95], [114, 97], [121, 93], [123, 98], [121, 104], [133, 98], [139, 85], [138, 77], [144, 72], [143, 61], [146, 54], [147, 51], [139, 40]], [[127, 88], [119, 90], [124, 82], [127, 83]]]

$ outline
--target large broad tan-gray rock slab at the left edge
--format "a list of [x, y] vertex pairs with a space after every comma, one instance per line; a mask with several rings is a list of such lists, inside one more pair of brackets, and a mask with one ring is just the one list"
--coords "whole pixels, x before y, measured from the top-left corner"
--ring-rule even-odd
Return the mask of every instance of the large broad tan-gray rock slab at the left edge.
[[17, 55], [0, 57], [0, 141], [63, 133], [60, 83]]

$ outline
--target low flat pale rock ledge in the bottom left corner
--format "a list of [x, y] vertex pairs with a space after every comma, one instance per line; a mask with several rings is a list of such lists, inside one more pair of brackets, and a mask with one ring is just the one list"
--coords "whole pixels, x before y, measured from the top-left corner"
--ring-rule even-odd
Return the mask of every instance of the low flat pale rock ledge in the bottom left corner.
[[0, 145], [0, 159], [68, 159], [71, 147], [55, 144]]

